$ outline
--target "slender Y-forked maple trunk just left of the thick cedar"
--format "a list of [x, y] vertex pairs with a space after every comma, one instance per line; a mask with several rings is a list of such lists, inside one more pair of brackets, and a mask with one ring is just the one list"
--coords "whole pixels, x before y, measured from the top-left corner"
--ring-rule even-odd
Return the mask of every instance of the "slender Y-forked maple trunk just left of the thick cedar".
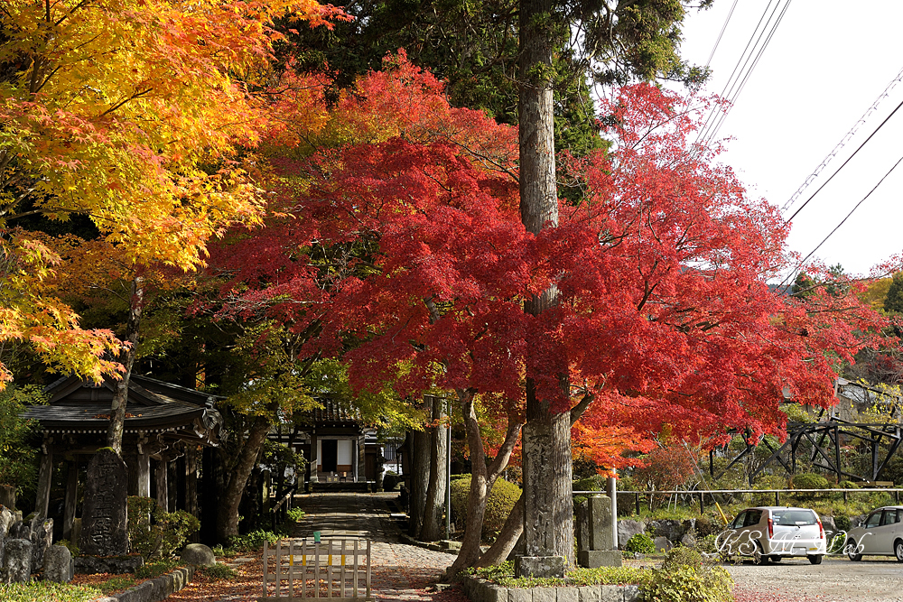
[[483, 531], [486, 501], [492, 485], [502, 470], [507, 467], [521, 428], [520, 424], [512, 421], [511, 418], [508, 419], [505, 440], [498, 449], [498, 454], [487, 467], [486, 451], [483, 449], [483, 440], [479, 435], [477, 412], [473, 407], [473, 393], [460, 390], [458, 397], [461, 400], [461, 416], [464, 418], [467, 444], [470, 449], [470, 494], [467, 499], [467, 515], [464, 518], [464, 539], [461, 541], [458, 557], [445, 573], [447, 580], [454, 579], [461, 570], [474, 566], [479, 560], [479, 540]]

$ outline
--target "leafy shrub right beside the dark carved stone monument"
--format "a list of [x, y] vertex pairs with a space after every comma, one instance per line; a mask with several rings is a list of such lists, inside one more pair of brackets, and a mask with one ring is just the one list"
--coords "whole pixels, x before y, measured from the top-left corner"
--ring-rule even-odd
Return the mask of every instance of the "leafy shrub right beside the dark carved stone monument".
[[[169, 558], [200, 529], [200, 521], [184, 510], [163, 512], [150, 497], [129, 495], [126, 531], [132, 550], [144, 558]], [[149, 520], [153, 518], [153, 523]]]

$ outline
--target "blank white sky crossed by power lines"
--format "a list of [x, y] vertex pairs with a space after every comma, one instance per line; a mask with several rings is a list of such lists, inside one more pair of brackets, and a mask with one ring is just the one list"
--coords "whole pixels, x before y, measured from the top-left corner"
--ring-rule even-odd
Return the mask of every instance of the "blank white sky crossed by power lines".
[[[705, 64], [732, 2], [716, 0], [710, 10], [690, 15], [684, 23], [684, 59]], [[739, 0], [712, 60], [708, 91], [721, 94], [767, 5], [768, 0]], [[734, 138], [721, 161], [734, 168], [751, 195], [781, 207], [815, 171], [903, 69], [901, 26], [899, 0], [791, 0], [718, 135]], [[882, 100], [796, 207], [901, 101], [903, 83]], [[794, 219], [790, 248], [807, 255], [900, 156], [903, 108]], [[901, 186], [903, 164], [815, 256], [826, 264], [842, 264], [847, 273], [866, 274], [874, 264], [903, 252]]]

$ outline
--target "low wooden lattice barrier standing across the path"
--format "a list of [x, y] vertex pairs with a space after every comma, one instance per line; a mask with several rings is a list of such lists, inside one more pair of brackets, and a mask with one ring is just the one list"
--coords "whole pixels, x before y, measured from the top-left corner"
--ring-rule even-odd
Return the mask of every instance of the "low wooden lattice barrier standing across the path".
[[[370, 542], [357, 539], [279, 540], [264, 542], [264, 589], [258, 602], [295, 602], [329, 598], [330, 602], [369, 602]], [[270, 588], [274, 592], [271, 595]], [[349, 595], [350, 594], [350, 595]], [[361, 595], [363, 594], [363, 595]]]

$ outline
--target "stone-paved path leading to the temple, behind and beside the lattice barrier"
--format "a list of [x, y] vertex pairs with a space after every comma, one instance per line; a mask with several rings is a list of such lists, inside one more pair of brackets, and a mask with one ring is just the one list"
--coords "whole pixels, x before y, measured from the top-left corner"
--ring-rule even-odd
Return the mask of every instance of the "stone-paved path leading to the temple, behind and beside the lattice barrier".
[[372, 543], [372, 588], [377, 600], [434, 600], [426, 590], [455, 557], [399, 541], [386, 500], [397, 494], [322, 493], [295, 498], [306, 514], [294, 537], [360, 537]]

